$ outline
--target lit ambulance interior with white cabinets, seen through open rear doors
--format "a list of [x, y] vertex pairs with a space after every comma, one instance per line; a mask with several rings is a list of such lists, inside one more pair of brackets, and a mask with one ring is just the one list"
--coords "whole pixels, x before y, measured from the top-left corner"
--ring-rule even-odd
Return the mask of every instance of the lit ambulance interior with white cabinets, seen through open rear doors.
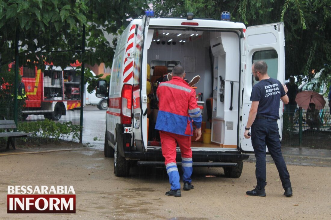
[[156, 89], [175, 65], [181, 65], [188, 81], [201, 77], [193, 88], [203, 115], [202, 136], [195, 141], [193, 131], [192, 147], [237, 148], [240, 34], [240, 30], [149, 27], [146, 47], [152, 90], [148, 146], [161, 146], [154, 129]]

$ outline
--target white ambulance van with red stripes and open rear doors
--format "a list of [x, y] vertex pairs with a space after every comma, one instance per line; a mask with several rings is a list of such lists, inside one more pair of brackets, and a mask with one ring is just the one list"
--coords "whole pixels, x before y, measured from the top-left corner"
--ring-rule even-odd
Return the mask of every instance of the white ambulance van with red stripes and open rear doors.
[[[193, 166], [223, 167], [226, 177], [240, 177], [243, 160], [249, 158], [242, 152], [253, 151], [251, 139], [243, 133], [252, 87], [258, 83], [251, 67], [258, 60], [266, 61], [270, 77], [284, 83], [283, 23], [246, 28], [228, 20], [189, 17], [132, 20], [118, 39], [110, 85], [99, 81], [97, 86], [97, 96], [108, 97], [105, 157], [114, 157], [115, 175], [127, 176], [133, 164], [164, 165], [154, 129], [158, 111], [154, 94], [163, 76], [180, 64], [188, 80], [201, 77], [196, 93], [204, 106], [203, 121], [211, 129], [210, 140], [192, 141]], [[154, 90], [149, 96], [148, 71]], [[282, 112], [283, 104], [280, 134]], [[178, 164], [180, 160], [177, 147]]]

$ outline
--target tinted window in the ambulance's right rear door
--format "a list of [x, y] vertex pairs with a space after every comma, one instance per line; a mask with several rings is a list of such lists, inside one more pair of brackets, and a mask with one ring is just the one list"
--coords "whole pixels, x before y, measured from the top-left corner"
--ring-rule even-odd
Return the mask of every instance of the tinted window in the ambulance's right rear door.
[[[278, 73], [278, 55], [275, 50], [267, 50], [267, 51], [257, 51], [253, 54], [252, 64], [256, 61], [264, 60], [268, 65], [268, 75], [271, 78], [277, 79]], [[252, 84], [257, 84], [252, 75]]]

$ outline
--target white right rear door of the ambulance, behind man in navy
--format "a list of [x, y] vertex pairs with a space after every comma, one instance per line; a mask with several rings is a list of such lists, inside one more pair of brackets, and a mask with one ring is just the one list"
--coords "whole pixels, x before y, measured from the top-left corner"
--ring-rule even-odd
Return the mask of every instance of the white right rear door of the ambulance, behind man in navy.
[[[285, 52], [284, 52], [284, 25], [283, 23], [265, 24], [248, 27], [245, 32], [246, 68], [244, 78], [243, 114], [241, 127], [241, 149], [243, 151], [254, 151], [251, 139], [243, 135], [251, 108], [252, 88], [258, 82], [252, 75], [252, 64], [264, 60], [268, 65], [268, 75], [278, 79], [284, 84], [285, 79]], [[278, 120], [279, 134], [282, 135], [283, 125], [283, 102], [279, 105]]]

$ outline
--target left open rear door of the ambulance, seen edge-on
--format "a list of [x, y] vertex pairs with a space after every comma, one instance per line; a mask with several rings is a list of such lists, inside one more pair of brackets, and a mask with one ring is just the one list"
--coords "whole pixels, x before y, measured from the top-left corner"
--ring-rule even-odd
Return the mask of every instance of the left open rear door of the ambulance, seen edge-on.
[[139, 152], [147, 151], [147, 95], [146, 95], [146, 58], [144, 45], [148, 31], [148, 17], [136, 25], [133, 61], [133, 132], [134, 144]]

